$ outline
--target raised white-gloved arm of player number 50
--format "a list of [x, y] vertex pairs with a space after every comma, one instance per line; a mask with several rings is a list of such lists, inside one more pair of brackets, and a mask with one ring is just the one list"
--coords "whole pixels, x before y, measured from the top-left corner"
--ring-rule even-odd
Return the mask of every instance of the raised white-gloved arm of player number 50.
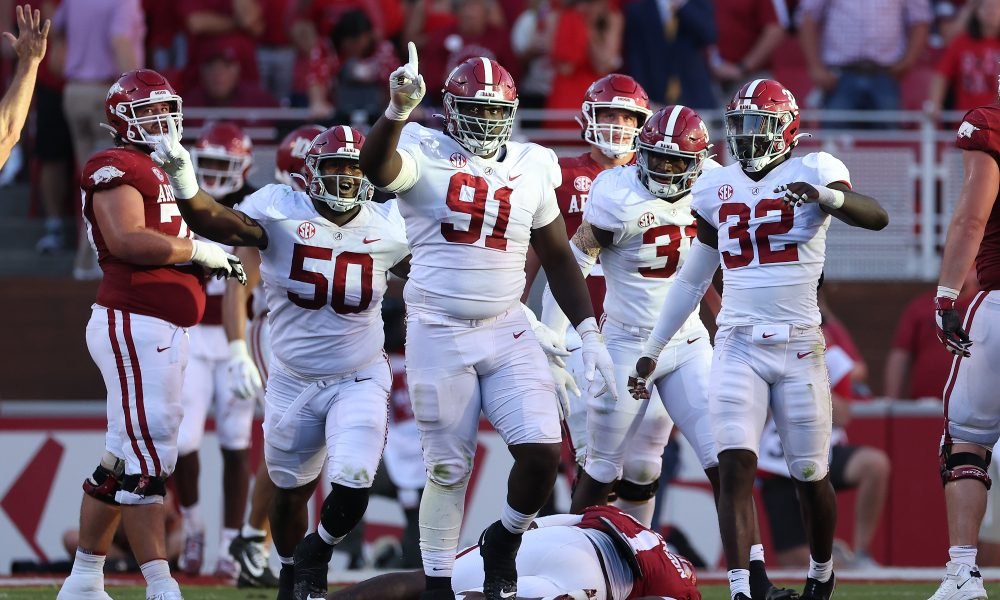
[[167, 119], [167, 132], [157, 142], [151, 158], [166, 171], [177, 207], [191, 231], [229, 246], [267, 247], [267, 232], [257, 221], [219, 204], [198, 187], [191, 154], [181, 145], [174, 119]]

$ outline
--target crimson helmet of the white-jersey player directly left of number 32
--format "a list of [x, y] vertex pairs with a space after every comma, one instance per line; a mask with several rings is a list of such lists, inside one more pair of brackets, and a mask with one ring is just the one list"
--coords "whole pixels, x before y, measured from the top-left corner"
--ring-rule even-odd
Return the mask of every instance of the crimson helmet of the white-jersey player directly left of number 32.
[[[679, 104], [656, 111], [639, 133], [636, 165], [646, 189], [657, 198], [676, 198], [686, 194], [701, 175], [712, 144], [708, 128], [693, 109]], [[682, 159], [687, 162], [680, 172], [666, 173], [651, 168], [650, 156]], [[658, 161], [660, 162], [660, 161]]]

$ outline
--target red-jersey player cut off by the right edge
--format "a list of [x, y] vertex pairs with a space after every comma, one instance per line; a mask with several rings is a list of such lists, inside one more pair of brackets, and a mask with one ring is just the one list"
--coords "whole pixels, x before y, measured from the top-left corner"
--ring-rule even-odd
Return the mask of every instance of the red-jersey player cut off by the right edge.
[[[938, 339], [955, 355], [944, 388], [941, 480], [948, 511], [947, 572], [933, 600], [986, 598], [976, 566], [979, 527], [986, 513], [987, 469], [1000, 438], [1000, 105], [969, 111], [958, 129], [965, 179], [948, 227], [937, 298]], [[979, 293], [965, 319], [955, 306], [965, 274], [976, 265]]]

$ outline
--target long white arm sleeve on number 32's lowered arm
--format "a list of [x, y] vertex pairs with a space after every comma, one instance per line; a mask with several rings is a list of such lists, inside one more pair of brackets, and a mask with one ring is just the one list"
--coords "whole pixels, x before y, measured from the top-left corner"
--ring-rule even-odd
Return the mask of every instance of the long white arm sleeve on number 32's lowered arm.
[[719, 268], [719, 252], [695, 240], [687, 260], [663, 301], [663, 310], [646, 340], [643, 356], [657, 357], [684, 321], [698, 308], [712, 277]]

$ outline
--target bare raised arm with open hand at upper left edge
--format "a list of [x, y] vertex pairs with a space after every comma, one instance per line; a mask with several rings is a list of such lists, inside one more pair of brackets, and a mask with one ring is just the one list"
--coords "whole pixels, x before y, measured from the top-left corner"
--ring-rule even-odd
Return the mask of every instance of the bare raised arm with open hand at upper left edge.
[[42, 24], [41, 12], [31, 5], [17, 7], [17, 37], [4, 32], [17, 54], [17, 71], [10, 89], [0, 99], [0, 167], [7, 162], [14, 144], [21, 137], [21, 129], [28, 118], [31, 92], [35, 88], [38, 65], [45, 56], [46, 40], [52, 24], [48, 19]]

